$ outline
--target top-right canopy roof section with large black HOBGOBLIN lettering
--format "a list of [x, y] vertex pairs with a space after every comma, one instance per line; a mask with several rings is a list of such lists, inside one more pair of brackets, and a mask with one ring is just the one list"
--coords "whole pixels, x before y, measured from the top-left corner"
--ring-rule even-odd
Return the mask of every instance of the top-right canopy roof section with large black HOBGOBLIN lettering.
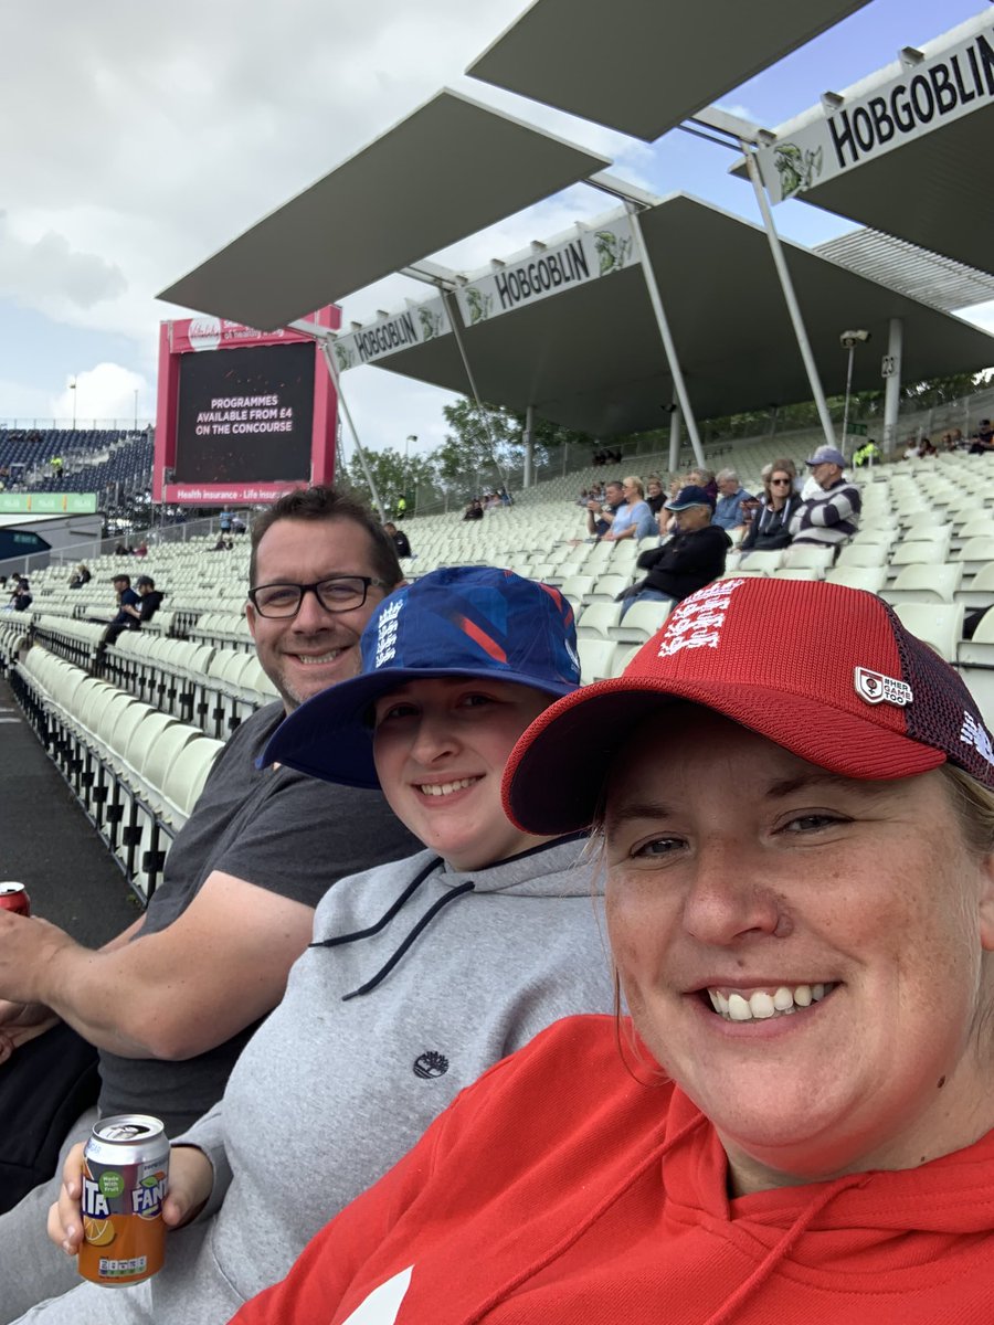
[[[994, 21], [990, 11], [773, 130], [774, 200], [798, 197], [981, 272], [994, 272]], [[779, 162], [791, 154], [786, 182]], [[733, 167], [744, 172], [742, 164]], [[791, 184], [798, 187], [791, 188]]]

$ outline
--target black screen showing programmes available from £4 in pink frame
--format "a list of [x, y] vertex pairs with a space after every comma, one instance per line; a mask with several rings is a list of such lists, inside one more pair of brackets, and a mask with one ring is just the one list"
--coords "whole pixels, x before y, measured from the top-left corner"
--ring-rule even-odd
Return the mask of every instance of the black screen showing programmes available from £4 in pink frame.
[[313, 344], [184, 354], [174, 481], [307, 482], [313, 425]]

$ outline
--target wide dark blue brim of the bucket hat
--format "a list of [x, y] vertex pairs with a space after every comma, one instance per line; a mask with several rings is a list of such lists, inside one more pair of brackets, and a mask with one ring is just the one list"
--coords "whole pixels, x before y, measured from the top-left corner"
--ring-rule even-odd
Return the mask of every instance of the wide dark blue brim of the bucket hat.
[[367, 676], [322, 690], [294, 709], [273, 733], [258, 767], [281, 763], [298, 772], [343, 787], [379, 787], [372, 759], [372, 727], [367, 714], [382, 694], [388, 694], [408, 681], [432, 681], [441, 677], [480, 677], [488, 681], [510, 681], [555, 697], [570, 694], [569, 682], [546, 684], [520, 672], [469, 672], [467, 668], [384, 668]]

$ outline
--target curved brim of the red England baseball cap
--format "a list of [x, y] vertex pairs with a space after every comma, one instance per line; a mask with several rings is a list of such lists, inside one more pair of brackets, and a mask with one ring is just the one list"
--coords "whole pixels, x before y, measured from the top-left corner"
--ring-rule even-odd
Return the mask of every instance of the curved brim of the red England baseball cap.
[[508, 818], [541, 836], [590, 827], [615, 758], [627, 742], [636, 753], [645, 719], [679, 701], [722, 713], [846, 778], [892, 780], [945, 763], [941, 750], [783, 689], [755, 686], [744, 693], [741, 682], [615, 677], [559, 700], [525, 731], [504, 774]]

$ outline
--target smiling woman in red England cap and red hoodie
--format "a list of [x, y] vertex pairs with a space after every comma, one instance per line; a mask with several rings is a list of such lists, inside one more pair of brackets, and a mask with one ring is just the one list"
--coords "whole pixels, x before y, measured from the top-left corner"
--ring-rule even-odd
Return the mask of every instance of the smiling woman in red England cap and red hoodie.
[[952, 668], [869, 594], [722, 580], [505, 804], [596, 824], [631, 1020], [492, 1068], [239, 1325], [989, 1321], [994, 747]]

